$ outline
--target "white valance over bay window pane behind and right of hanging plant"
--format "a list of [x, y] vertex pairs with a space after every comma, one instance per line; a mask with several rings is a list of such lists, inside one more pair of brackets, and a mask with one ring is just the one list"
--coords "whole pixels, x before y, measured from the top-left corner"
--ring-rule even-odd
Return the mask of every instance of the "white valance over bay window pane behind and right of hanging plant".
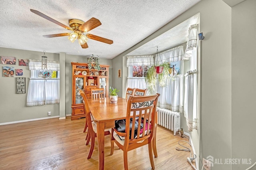
[[[180, 61], [183, 60], [184, 58], [184, 49], [183, 46], [180, 45], [179, 47], [175, 47], [172, 49], [168, 49], [167, 51], [163, 51], [161, 53], [159, 53], [158, 57], [158, 63], [159, 61], [167, 61], [167, 62], [176, 62], [176, 61]], [[161, 59], [160, 59], [161, 57]], [[157, 58], [155, 59], [155, 61], [157, 61]]]

